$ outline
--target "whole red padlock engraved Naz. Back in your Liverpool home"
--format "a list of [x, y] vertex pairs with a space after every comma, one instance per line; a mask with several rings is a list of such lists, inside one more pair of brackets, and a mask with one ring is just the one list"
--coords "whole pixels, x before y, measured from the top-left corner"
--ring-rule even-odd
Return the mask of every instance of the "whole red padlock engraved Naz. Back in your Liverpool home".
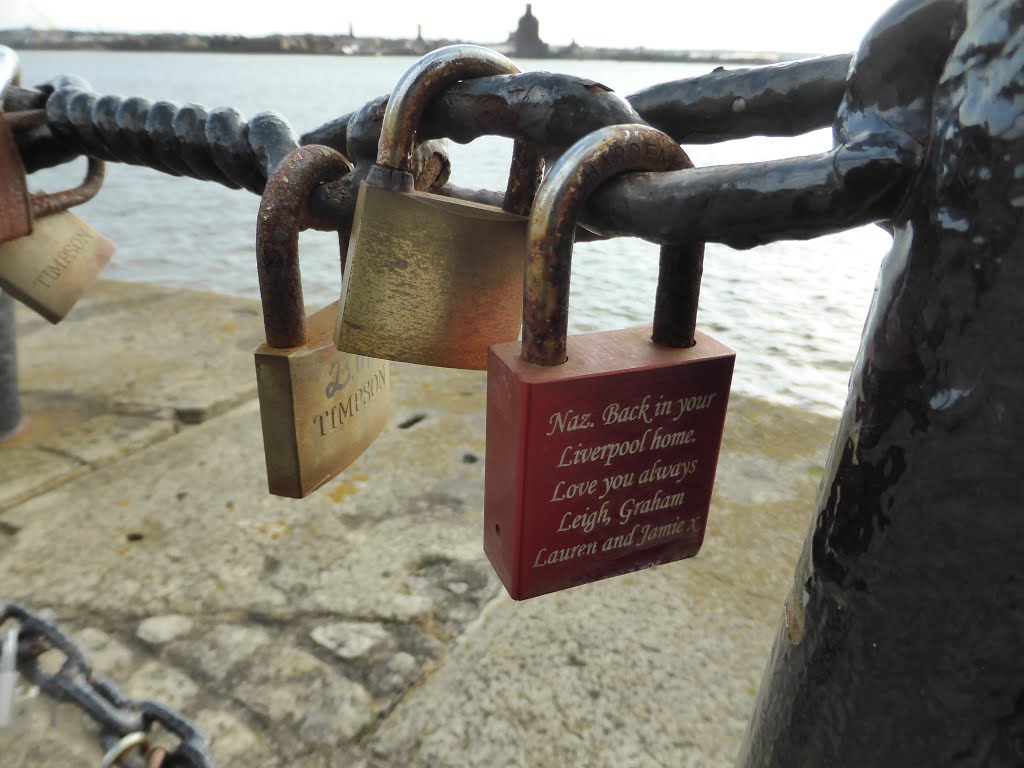
[[538, 191], [523, 340], [487, 360], [483, 547], [513, 599], [692, 557], [703, 542], [735, 352], [693, 331], [702, 246], [663, 249], [653, 330], [566, 339], [587, 198], [620, 173], [687, 167], [660, 131], [612, 126], [570, 147]]

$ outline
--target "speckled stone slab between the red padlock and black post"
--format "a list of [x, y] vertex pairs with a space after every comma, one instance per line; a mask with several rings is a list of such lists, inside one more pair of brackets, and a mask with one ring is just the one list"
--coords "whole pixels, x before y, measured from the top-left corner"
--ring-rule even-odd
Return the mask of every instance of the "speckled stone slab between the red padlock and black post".
[[826, 420], [734, 398], [695, 559], [504, 594], [368, 743], [375, 766], [731, 766], [792, 583]]

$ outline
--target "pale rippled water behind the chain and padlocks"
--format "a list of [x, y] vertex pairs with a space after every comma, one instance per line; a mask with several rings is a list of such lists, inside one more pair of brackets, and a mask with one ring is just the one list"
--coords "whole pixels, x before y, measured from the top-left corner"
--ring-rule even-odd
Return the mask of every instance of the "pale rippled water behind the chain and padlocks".
[[[274, 110], [303, 133], [389, 91], [412, 58], [332, 58], [228, 54], [29, 51], [23, 83], [60, 74], [84, 77], [99, 93], [145, 96], [244, 115]], [[624, 95], [710, 66], [615, 61], [518, 61], [597, 80]], [[822, 152], [827, 130], [796, 138], [754, 138], [686, 146], [698, 166]], [[455, 183], [503, 189], [511, 141], [487, 137], [453, 144]], [[84, 161], [35, 174], [34, 187], [71, 186]], [[112, 164], [83, 217], [118, 244], [104, 274], [129, 281], [259, 296], [253, 242], [258, 199], [218, 184]], [[879, 262], [890, 244], [877, 227], [750, 251], [709, 245], [697, 325], [736, 352], [736, 391], [836, 415], [870, 302]], [[301, 239], [306, 301], [338, 298], [337, 240]], [[620, 239], [577, 246], [569, 332], [650, 322], [657, 247]]]

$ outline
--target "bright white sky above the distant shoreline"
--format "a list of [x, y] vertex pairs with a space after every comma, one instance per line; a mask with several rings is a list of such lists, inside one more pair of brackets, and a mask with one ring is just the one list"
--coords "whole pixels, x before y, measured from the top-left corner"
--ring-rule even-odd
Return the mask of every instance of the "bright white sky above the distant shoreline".
[[[840, 53], [853, 50], [891, 0], [707, 0], [630, 4], [591, 0], [532, 3], [541, 38], [586, 46], [696, 48]], [[0, 29], [35, 27], [88, 31], [193, 32], [247, 36], [274, 33], [415, 37], [476, 43], [504, 41], [524, 2], [229, 3], [217, 0], [2, 0]], [[633, 12], [635, 11], [635, 12]]]

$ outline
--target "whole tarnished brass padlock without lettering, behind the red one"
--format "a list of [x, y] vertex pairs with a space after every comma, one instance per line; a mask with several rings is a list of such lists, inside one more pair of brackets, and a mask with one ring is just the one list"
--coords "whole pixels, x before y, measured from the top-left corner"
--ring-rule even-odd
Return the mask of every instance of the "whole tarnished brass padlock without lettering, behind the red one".
[[[359, 184], [342, 279], [339, 349], [446, 368], [486, 368], [487, 347], [519, 337], [528, 210], [543, 159], [513, 151], [503, 208], [415, 191], [411, 158], [430, 99], [466, 78], [515, 74], [475, 45], [428, 53], [388, 100], [377, 163]], [[514, 202], [518, 199], [518, 202]]]

